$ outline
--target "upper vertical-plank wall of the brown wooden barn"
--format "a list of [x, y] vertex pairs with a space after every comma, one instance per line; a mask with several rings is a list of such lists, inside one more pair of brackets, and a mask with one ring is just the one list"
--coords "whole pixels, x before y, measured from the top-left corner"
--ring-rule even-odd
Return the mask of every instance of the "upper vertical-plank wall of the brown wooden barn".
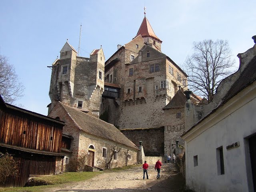
[[61, 126], [44, 119], [0, 109], [1, 143], [59, 153], [61, 140]]

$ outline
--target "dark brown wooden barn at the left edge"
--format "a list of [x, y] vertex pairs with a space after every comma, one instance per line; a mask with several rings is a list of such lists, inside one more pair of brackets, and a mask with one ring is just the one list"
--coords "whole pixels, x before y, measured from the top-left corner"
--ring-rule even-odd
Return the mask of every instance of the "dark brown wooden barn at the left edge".
[[7, 104], [0, 96], [0, 153], [11, 154], [18, 174], [4, 186], [24, 186], [29, 176], [62, 172], [64, 122]]

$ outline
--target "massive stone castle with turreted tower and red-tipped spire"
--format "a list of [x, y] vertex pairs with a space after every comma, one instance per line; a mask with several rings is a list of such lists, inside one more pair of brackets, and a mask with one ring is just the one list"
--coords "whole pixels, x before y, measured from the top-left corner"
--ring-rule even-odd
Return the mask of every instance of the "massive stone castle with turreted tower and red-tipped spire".
[[100, 117], [135, 144], [143, 141], [147, 156], [172, 154], [184, 131], [184, 105], [166, 106], [187, 89], [187, 75], [162, 53], [161, 44], [146, 15], [136, 36], [106, 62], [102, 49], [82, 58], [66, 42], [52, 64], [51, 101]]

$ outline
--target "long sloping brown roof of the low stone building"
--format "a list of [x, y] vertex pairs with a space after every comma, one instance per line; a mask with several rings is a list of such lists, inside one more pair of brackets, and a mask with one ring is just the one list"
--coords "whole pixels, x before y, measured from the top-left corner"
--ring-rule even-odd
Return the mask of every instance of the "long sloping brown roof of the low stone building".
[[[58, 101], [59, 102], [59, 101]], [[125, 146], [137, 149], [136, 145], [131, 142], [124, 134], [122, 134], [114, 125], [102, 121], [98, 118], [94, 118], [84, 112], [73, 109], [61, 102], [60, 105], [68, 112], [68, 115], [74, 123], [87, 134], [94, 135], [96, 137], [104, 138], [112, 142], [120, 143]]]

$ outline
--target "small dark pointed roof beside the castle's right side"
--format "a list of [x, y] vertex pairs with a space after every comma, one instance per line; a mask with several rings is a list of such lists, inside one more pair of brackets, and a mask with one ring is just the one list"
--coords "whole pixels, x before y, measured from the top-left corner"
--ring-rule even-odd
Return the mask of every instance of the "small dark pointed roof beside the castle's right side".
[[172, 100], [163, 108], [165, 109], [171, 109], [171, 108], [184, 108], [186, 103], [186, 96], [182, 92], [182, 90], [178, 90]]

